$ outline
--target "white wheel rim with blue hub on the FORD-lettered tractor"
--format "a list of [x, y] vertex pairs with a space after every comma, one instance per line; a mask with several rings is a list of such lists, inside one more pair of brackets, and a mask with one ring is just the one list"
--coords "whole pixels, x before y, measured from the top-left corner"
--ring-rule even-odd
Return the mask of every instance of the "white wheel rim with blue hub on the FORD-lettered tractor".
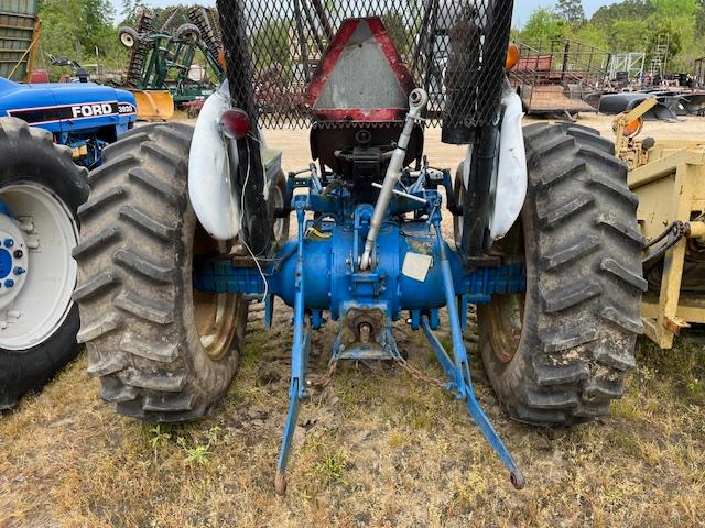
[[22, 351], [50, 339], [70, 312], [78, 226], [61, 198], [37, 184], [3, 187], [0, 201], [12, 213], [0, 215], [1, 253], [13, 257], [12, 270], [0, 273], [0, 348]]

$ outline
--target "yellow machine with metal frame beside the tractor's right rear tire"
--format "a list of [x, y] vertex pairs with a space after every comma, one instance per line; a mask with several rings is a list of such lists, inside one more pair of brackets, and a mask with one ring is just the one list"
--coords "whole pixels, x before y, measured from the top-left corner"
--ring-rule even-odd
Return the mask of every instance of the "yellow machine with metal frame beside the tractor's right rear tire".
[[616, 153], [629, 165], [629, 187], [639, 196], [638, 219], [649, 240], [642, 305], [647, 336], [662, 349], [692, 323], [705, 323], [705, 139], [639, 138], [642, 102], [615, 121]]

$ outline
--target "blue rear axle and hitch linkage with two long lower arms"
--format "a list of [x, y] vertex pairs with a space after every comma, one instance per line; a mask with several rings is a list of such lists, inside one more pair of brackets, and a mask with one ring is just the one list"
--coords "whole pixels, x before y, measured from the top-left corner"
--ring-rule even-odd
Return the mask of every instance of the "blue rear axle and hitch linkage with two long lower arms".
[[[444, 172], [445, 184], [449, 178], [449, 173]], [[514, 487], [524, 486], [522, 472], [474, 394], [463, 341], [469, 302], [489, 302], [492, 295], [511, 295], [525, 289], [523, 262], [505, 263], [494, 268], [464, 268], [442, 237], [442, 197], [435, 190], [441, 184], [438, 174], [432, 176], [425, 168], [413, 178], [404, 172], [404, 180], [415, 184], [406, 187], [405, 193], [395, 189], [373, 250], [371, 271], [361, 271], [359, 263], [373, 217], [372, 207], [359, 205], [351, 215], [349, 211], [346, 215], [346, 208], [354, 206], [345, 188], [324, 190], [315, 170], [308, 177], [290, 175], [286, 199], [296, 213], [299, 235], [274, 258], [256, 263], [250, 257], [214, 257], [200, 260], [195, 265], [197, 290], [264, 298], [268, 326], [272, 323], [275, 295], [293, 306], [290, 406], [275, 480], [280, 494], [286, 490], [284, 472], [300, 404], [308, 396], [306, 370], [311, 331], [323, 324], [324, 310], [339, 321], [333, 363], [370, 359], [400, 361], [391, 324], [401, 318], [402, 310], [408, 311], [408, 323], [414, 330], [423, 329], [447, 376], [445, 388], [465, 403], [467, 411], [509, 470]], [[294, 188], [299, 187], [307, 187], [308, 194], [293, 196]], [[312, 212], [314, 219], [306, 219], [306, 212]], [[413, 213], [414, 220], [398, 220], [408, 213]], [[352, 221], [346, 220], [349, 218]], [[452, 354], [434, 334], [440, 327], [440, 309], [444, 306], [451, 323]]]

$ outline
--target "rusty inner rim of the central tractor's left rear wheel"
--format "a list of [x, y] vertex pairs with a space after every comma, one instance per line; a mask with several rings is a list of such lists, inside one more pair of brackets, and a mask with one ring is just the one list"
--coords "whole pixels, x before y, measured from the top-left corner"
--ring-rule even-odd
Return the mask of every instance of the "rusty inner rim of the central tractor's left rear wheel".
[[[194, 238], [195, 254], [227, 253], [228, 248], [198, 227]], [[240, 296], [193, 292], [193, 314], [200, 344], [213, 361], [224, 359], [231, 350], [237, 333]]]

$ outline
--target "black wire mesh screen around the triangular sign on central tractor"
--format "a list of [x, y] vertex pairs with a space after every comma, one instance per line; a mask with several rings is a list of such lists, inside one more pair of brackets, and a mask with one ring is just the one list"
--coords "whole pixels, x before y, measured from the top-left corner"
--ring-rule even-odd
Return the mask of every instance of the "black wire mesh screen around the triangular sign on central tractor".
[[306, 88], [338, 28], [379, 16], [430, 94], [432, 124], [488, 124], [499, 109], [512, 8], [513, 0], [218, 0], [234, 103], [261, 128], [310, 127]]

